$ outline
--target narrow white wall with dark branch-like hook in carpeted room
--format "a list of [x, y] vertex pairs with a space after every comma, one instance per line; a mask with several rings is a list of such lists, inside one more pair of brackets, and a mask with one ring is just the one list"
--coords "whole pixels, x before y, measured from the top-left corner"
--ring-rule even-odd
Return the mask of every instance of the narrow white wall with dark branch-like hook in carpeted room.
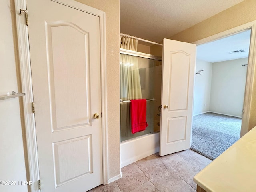
[[208, 112], [210, 109], [210, 92], [212, 81], [212, 63], [196, 60], [196, 72], [202, 71], [202, 75], [195, 77], [194, 109], [193, 115]]

